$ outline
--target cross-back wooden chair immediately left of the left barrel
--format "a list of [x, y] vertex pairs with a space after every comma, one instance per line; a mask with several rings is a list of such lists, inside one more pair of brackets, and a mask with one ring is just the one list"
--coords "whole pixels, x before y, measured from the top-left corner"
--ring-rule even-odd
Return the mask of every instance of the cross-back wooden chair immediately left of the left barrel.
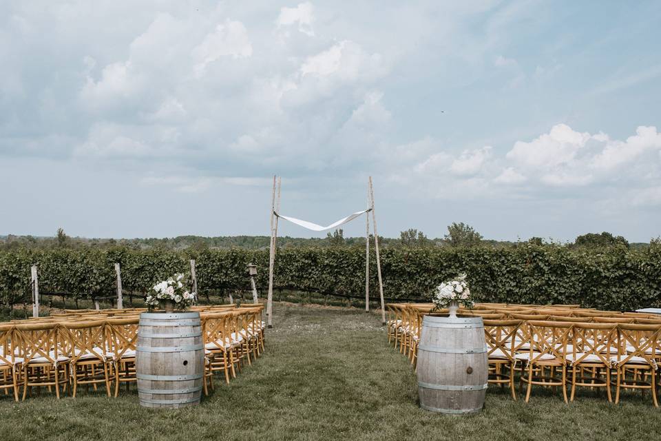
[[115, 377], [115, 393], [119, 395], [120, 383], [125, 383], [127, 390], [136, 382], [136, 344], [138, 342], [138, 317], [112, 318], [106, 320], [106, 336], [112, 353]]

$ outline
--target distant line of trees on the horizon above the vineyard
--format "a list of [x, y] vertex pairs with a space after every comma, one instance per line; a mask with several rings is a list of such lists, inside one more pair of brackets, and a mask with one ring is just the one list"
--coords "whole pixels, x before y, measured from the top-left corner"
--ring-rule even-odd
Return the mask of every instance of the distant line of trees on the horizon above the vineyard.
[[[0, 236], [0, 250], [5, 249], [52, 249], [52, 248], [110, 248], [128, 247], [132, 249], [207, 249], [232, 248], [263, 249], [269, 247], [269, 236], [177, 236], [172, 238], [81, 238], [67, 236], [62, 228], [57, 229], [54, 236], [16, 236], [8, 234]], [[627, 247], [641, 249], [649, 245], [660, 245], [660, 238], [652, 238], [649, 243], [629, 243], [622, 236], [614, 236], [608, 232], [589, 233], [578, 236], [574, 242], [559, 243], [551, 239], [538, 237], [521, 239], [516, 242], [507, 240], [485, 239], [470, 225], [452, 223], [448, 225], [448, 234], [443, 238], [428, 238], [423, 232], [411, 228], [399, 234], [399, 238], [379, 236], [382, 247], [516, 247], [521, 243], [535, 245], [554, 245], [564, 247]], [[365, 246], [364, 237], [344, 237], [342, 229], [328, 233], [325, 238], [296, 238], [281, 236], [277, 238], [278, 247], [336, 247]]]

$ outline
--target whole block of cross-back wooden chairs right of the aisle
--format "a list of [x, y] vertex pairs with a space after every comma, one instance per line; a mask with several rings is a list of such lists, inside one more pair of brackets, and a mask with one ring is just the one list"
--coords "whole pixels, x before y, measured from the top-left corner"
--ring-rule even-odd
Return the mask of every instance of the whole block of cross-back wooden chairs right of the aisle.
[[[415, 365], [423, 316], [433, 305], [390, 304], [388, 340]], [[439, 311], [443, 314], [446, 311]], [[489, 383], [508, 385], [516, 400], [527, 385], [525, 401], [533, 385], [561, 387], [573, 401], [576, 387], [603, 388], [615, 402], [621, 389], [651, 391], [658, 407], [656, 388], [661, 364], [661, 318], [649, 314], [617, 313], [580, 309], [578, 305], [480, 304], [460, 310], [466, 316], [481, 316], [489, 361]]]

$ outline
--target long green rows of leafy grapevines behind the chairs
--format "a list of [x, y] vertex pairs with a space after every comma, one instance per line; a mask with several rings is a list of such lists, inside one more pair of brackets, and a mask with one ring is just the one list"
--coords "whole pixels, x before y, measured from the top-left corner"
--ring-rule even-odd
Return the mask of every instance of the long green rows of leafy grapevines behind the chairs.
[[[35, 264], [42, 291], [83, 299], [114, 294], [114, 263], [121, 265], [123, 290], [144, 294], [165, 276], [188, 271], [190, 259], [196, 260], [200, 296], [249, 289], [248, 263], [258, 265], [258, 289], [266, 290], [268, 249], [18, 249], [0, 252], [0, 301], [11, 305], [30, 298]], [[362, 247], [281, 248], [274, 287], [364, 298], [364, 265]], [[614, 310], [661, 306], [660, 247], [392, 247], [381, 252], [381, 265], [387, 300], [421, 300], [441, 280], [467, 272], [483, 302], [578, 303]], [[375, 267], [370, 269], [373, 287], [376, 274]], [[372, 293], [376, 299], [377, 289]]]

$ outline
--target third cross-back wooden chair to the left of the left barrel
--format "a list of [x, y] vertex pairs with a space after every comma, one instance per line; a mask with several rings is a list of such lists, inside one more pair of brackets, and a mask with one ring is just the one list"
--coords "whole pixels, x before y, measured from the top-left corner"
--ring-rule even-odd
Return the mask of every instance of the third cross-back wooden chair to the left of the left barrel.
[[14, 329], [19, 356], [23, 358], [23, 400], [32, 387], [48, 387], [49, 391], [54, 387], [55, 396], [59, 399], [60, 387], [63, 392], [67, 391], [70, 362], [59, 345], [59, 325], [35, 322], [14, 325]]

